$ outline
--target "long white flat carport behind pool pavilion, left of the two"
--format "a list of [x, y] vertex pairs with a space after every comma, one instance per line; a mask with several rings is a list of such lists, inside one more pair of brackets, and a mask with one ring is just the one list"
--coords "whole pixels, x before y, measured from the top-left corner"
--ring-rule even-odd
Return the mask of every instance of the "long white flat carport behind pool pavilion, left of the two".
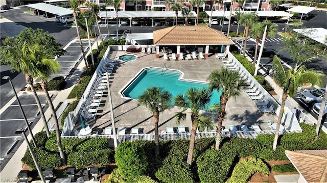
[[[192, 14], [193, 14], [193, 17], [197, 17], [197, 14], [195, 11], [192, 11]], [[178, 12], [177, 16], [184, 17], [182, 15], [181, 11]], [[116, 12], [115, 11], [109, 11], [109, 12], [108, 11], [107, 12], [100, 11], [99, 17], [107, 18], [107, 19], [108, 19], [108, 17], [116, 17]], [[153, 17], [176, 17], [176, 13], [174, 11], [119, 11], [118, 17], [119, 18], [131, 17], [129, 19], [129, 21], [130, 21], [129, 24], [131, 26], [131, 24], [132, 24], [131, 21], [132, 21], [133, 17], [150, 17], [150, 18], [153, 18]], [[192, 15], [188, 16], [188, 17], [192, 17]], [[153, 27], [153, 21], [151, 23], [152, 23], [152, 27]], [[175, 24], [175, 19], [174, 19], [174, 24]]]

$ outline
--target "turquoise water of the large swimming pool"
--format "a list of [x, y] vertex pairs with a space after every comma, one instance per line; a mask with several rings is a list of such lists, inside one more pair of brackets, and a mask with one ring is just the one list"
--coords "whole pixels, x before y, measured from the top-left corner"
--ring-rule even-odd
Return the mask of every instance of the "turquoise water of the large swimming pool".
[[[178, 80], [181, 73], [175, 70], [162, 70], [161, 68], [149, 68], [140, 73], [134, 81], [132, 81], [128, 87], [122, 92], [126, 97], [136, 99], [146, 89], [150, 87], [160, 87], [169, 91], [173, 98], [177, 94], [186, 93], [190, 87], [193, 88], [208, 88], [206, 83], [189, 82]], [[210, 104], [220, 104], [220, 93], [214, 91]], [[174, 104], [172, 100], [171, 104]]]

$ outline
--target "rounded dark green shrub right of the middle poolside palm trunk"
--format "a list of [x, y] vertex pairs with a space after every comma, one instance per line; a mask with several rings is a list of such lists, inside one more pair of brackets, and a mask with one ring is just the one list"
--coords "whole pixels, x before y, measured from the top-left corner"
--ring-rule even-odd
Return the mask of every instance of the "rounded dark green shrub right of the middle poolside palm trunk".
[[205, 151], [196, 162], [201, 182], [225, 182], [235, 156], [223, 149]]

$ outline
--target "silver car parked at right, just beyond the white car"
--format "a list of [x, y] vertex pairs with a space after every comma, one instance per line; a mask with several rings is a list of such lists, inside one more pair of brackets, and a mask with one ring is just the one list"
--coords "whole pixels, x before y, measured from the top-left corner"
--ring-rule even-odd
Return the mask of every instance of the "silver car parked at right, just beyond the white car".
[[313, 89], [313, 90], [310, 90], [307, 92], [303, 92], [300, 95], [299, 101], [301, 103], [305, 104], [305, 106], [311, 107], [311, 106], [313, 106], [314, 103], [322, 101], [322, 97], [323, 97], [324, 93], [325, 93], [324, 88], [318, 88], [318, 89]]

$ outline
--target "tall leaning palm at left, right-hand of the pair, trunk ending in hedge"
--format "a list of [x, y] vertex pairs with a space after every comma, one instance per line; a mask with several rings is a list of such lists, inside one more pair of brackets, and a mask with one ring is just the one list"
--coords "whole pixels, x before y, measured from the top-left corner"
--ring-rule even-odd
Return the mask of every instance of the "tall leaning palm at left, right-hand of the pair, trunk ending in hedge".
[[60, 65], [58, 62], [50, 59], [50, 57], [45, 53], [40, 45], [34, 44], [28, 46], [28, 61], [32, 63], [36, 68], [36, 74], [41, 79], [41, 86], [45, 93], [46, 101], [49, 104], [49, 108], [52, 112], [52, 117], [55, 120], [55, 129], [56, 129], [56, 138], [57, 138], [57, 145], [60, 154], [61, 163], [66, 165], [66, 158], [65, 154], [63, 153], [62, 146], [61, 146], [61, 138], [60, 138], [60, 130], [59, 130], [59, 123], [56, 114], [55, 107], [53, 106], [52, 100], [50, 98], [48, 92], [48, 86], [46, 85], [48, 77], [52, 73], [58, 73]]

